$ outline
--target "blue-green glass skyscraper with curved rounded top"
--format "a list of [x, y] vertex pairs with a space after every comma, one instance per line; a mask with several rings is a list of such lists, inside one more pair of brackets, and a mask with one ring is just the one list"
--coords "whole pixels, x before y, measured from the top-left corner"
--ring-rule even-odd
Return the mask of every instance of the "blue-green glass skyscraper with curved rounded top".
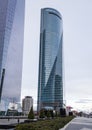
[[61, 14], [52, 8], [41, 10], [38, 111], [63, 106], [63, 28]]

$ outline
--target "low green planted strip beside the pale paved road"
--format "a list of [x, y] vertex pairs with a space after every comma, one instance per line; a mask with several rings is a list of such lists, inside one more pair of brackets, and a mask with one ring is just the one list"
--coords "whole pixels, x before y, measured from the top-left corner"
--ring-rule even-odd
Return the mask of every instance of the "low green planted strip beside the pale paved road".
[[59, 130], [64, 127], [74, 117], [57, 117], [54, 119], [39, 120], [37, 122], [30, 122], [26, 124], [19, 124], [15, 130]]

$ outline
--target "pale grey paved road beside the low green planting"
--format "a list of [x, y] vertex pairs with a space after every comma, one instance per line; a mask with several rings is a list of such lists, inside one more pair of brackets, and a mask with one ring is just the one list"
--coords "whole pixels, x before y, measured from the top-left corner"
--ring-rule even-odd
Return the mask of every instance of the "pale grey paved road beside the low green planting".
[[92, 130], [92, 118], [77, 117], [60, 130]]

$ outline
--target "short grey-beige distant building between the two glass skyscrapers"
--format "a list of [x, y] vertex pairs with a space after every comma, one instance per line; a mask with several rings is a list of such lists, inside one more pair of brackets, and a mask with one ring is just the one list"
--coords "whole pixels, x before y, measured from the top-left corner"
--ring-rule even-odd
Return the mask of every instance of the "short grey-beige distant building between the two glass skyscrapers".
[[31, 96], [26, 96], [22, 100], [22, 111], [25, 115], [28, 115], [31, 107], [33, 107], [33, 98]]

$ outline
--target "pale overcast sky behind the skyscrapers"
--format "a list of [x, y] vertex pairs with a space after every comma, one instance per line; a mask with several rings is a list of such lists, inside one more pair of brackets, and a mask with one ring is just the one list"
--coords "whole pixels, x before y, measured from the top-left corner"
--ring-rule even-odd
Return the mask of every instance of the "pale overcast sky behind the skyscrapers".
[[57, 9], [63, 18], [64, 100], [92, 110], [92, 0], [25, 0], [22, 98], [37, 101], [40, 10]]

